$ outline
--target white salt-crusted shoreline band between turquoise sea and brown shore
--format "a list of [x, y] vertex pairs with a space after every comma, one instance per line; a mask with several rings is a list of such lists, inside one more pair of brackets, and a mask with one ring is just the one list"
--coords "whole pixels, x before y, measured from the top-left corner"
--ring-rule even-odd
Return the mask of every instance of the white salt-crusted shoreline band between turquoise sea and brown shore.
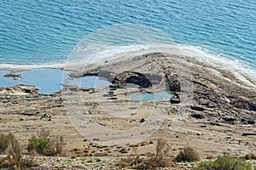
[[[237, 62], [236, 60], [224, 58], [222, 56], [216, 56], [214, 54], [207, 53], [201, 48], [183, 44], [148, 44], [134, 51], [127, 52], [125, 48], [132, 48], [137, 46], [117, 47], [117, 50], [111, 54], [110, 58], [106, 55], [105, 51], [96, 53], [96, 63], [88, 59], [73, 59], [73, 56], [68, 57], [64, 63], [49, 64], [49, 65], [10, 65], [0, 64], [0, 71], [10, 71], [10, 73], [18, 73], [21, 71], [32, 71], [38, 69], [56, 69], [62, 71], [85, 71], [88, 70], [84, 66], [94, 67], [96, 65], [105, 65], [108, 62], [119, 61], [124, 62], [125, 59], [129, 60], [134, 57], [148, 55], [148, 54], [166, 54], [166, 56], [174, 56], [179, 59], [191, 62], [193, 65], [207, 67], [209, 71], [215, 72], [219, 77], [223, 77], [227, 80], [226, 75], [237, 79], [239, 83], [243, 85], [249, 85], [249, 88], [256, 88], [256, 70], [248, 69], [246, 64]], [[123, 49], [124, 48], [124, 49]], [[123, 50], [123, 51], [122, 51]], [[102, 54], [102, 55], [101, 55]], [[105, 56], [106, 55], [106, 56]], [[101, 61], [97, 59], [101, 56]], [[125, 56], [125, 57], [123, 57]], [[90, 56], [89, 56], [90, 57]], [[123, 57], [123, 58], [122, 58]], [[98, 60], [98, 61], [97, 61]], [[92, 62], [92, 63], [91, 63]], [[225, 73], [224, 73], [225, 72]], [[223, 74], [224, 73], [224, 74]], [[239, 84], [238, 83], [238, 84]]]

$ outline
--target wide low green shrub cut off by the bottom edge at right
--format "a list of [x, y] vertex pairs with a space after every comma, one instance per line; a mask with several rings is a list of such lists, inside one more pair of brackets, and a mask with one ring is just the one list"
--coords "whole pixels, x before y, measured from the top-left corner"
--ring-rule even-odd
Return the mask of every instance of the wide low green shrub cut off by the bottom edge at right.
[[218, 156], [216, 161], [204, 161], [195, 170], [251, 170], [252, 165], [244, 159], [231, 156]]

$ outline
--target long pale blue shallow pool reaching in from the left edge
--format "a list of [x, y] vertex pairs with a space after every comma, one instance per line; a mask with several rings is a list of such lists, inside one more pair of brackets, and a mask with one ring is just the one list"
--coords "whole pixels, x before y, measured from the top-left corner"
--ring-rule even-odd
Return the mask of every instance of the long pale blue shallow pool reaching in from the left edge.
[[0, 87], [11, 87], [18, 84], [34, 85], [40, 88], [40, 94], [52, 94], [59, 92], [62, 83], [67, 85], [76, 85], [81, 88], [104, 88], [111, 85], [107, 80], [101, 77], [68, 77], [70, 71], [60, 69], [35, 69], [31, 71], [20, 71], [15, 75], [20, 75], [20, 79], [14, 80], [11, 77], [3, 77], [9, 74], [9, 71], [0, 71]]

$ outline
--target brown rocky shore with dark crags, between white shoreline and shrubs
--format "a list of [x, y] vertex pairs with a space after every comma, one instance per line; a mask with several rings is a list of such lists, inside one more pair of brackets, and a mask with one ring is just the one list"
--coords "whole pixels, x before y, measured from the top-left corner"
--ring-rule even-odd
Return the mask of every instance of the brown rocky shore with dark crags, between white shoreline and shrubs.
[[[160, 138], [171, 145], [172, 156], [184, 146], [197, 150], [202, 159], [223, 154], [238, 157], [255, 154], [256, 82], [251, 77], [240, 74], [241, 78], [238, 73], [200, 60], [168, 54], [144, 54], [80, 68], [66, 69], [73, 71], [70, 77], [95, 75], [111, 82], [111, 87], [67, 85], [55, 94], [38, 94], [37, 87], [28, 85], [0, 88], [1, 133], [14, 133], [26, 148], [32, 135], [47, 129], [51, 136], [64, 137], [68, 156], [143, 155], [154, 151], [155, 140]], [[138, 88], [126, 88], [127, 84]], [[129, 94], [160, 91], [172, 92], [173, 98], [167, 101], [129, 98]], [[128, 130], [142, 123], [151, 125], [150, 111], [165, 118], [143, 141], [141, 135], [129, 133], [133, 141], [138, 141], [135, 147], [130, 147], [132, 142], [108, 145], [100, 137], [82, 135], [67, 116], [69, 110], [85, 111], [102, 127], [113, 130]], [[113, 116], [117, 111], [128, 116]], [[127, 136], [120, 140], [129, 141]], [[127, 152], [119, 151], [123, 148]], [[112, 168], [114, 163], [110, 163]], [[79, 166], [86, 168], [85, 164]]]

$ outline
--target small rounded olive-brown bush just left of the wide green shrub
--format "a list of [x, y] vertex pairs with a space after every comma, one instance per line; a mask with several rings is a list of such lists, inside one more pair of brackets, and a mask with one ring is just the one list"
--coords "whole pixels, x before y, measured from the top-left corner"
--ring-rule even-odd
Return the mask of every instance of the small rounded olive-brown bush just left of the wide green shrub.
[[193, 149], [186, 147], [183, 150], [181, 150], [178, 155], [176, 156], [176, 161], [199, 161], [200, 156], [199, 154]]

